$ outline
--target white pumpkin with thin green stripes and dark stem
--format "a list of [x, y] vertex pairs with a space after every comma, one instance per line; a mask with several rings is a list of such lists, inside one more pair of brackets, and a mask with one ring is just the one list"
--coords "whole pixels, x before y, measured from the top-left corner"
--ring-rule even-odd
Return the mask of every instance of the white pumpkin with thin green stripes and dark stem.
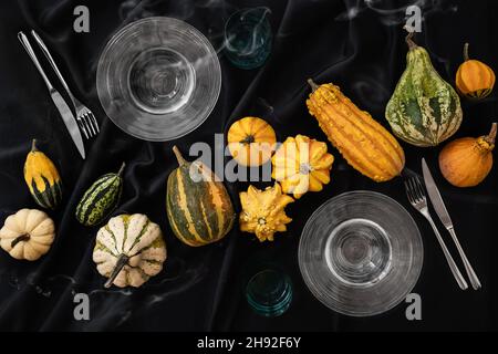
[[105, 288], [138, 288], [160, 272], [165, 260], [160, 228], [145, 215], [120, 215], [98, 230], [93, 261], [108, 278]]

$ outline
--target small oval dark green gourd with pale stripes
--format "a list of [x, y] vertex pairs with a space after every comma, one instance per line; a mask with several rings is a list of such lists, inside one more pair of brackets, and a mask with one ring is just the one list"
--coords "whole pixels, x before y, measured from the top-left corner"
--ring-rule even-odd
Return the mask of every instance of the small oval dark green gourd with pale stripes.
[[117, 174], [106, 174], [90, 187], [76, 207], [76, 219], [85, 226], [104, 221], [120, 202], [123, 191], [123, 164]]

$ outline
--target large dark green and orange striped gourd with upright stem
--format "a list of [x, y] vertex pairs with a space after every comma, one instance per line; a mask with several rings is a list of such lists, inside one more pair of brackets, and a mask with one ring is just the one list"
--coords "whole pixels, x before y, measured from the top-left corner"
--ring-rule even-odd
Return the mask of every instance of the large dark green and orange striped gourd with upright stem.
[[176, 146], [173, 150], [179, 164], [168, 176], [166, 192], [173, 232], [193, 247], [216, 242], [230, 231], [236, 217], [227, 189], [206, 165], [186, 162]]

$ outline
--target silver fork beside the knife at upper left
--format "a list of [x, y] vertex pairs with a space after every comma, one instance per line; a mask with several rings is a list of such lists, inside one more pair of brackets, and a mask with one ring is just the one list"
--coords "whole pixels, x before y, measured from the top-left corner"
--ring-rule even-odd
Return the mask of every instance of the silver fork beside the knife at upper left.
[[52, 66], [53, 71], [58, 75], [59, 80], [62, 83], [62, 86], [68, 92], [68, 95], [71, 100], [71, 103], [73, 104], [74, 111], [76, 112], [76, 121], [80, 125], [80, 128], [83, 131], [83, 135], [86, 139], [90, 139], [91, 137], [94, 137], [98, 134], [98, 123], [95, 118], [95, 115], [92, 113], [92, 111], [89, 110], [84, 104], [82, 104], [76, 97], [74, 97], [73, 93], [69, 88], [64, 77], [62, 77], [61, 71], [59, 70], [58, 65], [55, 64], [52, 55], [49, 52], [49, 49], [46, 48], [43, 40], [38, 35], [34, 30], [31, 30], [31, 34], [33, 35], [37, 43], [40, 45], [43, 54], [45, 55], [46, 60], [49, 61], [50, 65]]

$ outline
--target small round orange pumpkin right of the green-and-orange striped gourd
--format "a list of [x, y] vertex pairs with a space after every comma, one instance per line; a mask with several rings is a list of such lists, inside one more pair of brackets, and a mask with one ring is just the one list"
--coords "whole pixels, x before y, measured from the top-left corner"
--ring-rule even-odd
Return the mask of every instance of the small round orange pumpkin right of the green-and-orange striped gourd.
[[266, 121], [245, 117], [230, 126], [227, 140], [237, 163], [242, 166], [261, 166], [270, 159], [277, 136]]

